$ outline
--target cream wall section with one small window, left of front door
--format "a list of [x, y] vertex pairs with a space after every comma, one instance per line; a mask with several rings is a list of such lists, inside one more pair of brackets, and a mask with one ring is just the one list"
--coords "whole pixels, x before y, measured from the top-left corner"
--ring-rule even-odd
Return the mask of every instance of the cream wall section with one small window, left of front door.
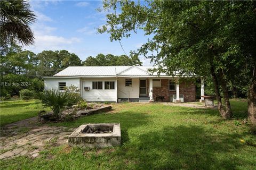
[[139, 78], [132, 78], [132, 86], [128, 87], [125, 78], [118, 78], [118, 98], [139, 98], [139, 82]]

